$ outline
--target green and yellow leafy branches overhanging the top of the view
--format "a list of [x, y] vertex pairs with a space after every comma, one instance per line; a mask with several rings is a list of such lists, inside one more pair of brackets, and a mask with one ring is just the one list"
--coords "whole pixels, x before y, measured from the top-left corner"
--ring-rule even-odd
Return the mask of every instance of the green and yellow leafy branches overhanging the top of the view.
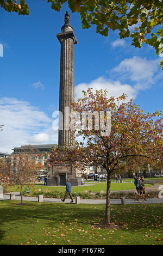
[[[44, 0], [51, 8], [60, 11], [68, 3], [73, 12], [80, 14], [82, 28], [96, 26], [96, 33], [108, 36], [109, 29], [119, 31], [120, 39], [130, 37], [131, 45], [141, 47], [142, 43], [154, 47], [156, 54], [163, 52], [163, 1], [162, 0]], [[19, 3], [17, 3], [19, 2]], [[29, 8], [24, 0], [0, 0], [7, 11], [28, 15]], [[134, 30], [131, 29], [132, 26]], [[161, 61], [161, 66], [163, 60]]]

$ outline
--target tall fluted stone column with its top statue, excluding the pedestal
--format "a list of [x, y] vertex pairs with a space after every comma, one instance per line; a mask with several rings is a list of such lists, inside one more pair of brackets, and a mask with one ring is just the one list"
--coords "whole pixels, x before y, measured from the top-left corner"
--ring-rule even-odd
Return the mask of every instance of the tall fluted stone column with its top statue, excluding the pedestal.
[[73, 144], [74, 139], [69, 130], [70, 103], [74, 102], [74, 60], [73, 45], [77, 44], [76, 36], [70, 25], [70, 14], [66, 11], [65, 24], [61, 27], [61, 33], [57, 34], [61, 44], [60, 51], [60, 92], [59, 92], [59, 130], [58, 147]]

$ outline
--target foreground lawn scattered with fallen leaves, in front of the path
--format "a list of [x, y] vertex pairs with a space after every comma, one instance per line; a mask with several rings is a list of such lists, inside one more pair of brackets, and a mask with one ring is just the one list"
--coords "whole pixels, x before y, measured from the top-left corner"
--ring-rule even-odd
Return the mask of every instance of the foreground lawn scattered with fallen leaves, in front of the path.
[[105, 205], [19, 203], [0, 201], [0, 245], [163, 245], [162, 204], [111, 205], [124, 227], [98, 229]]

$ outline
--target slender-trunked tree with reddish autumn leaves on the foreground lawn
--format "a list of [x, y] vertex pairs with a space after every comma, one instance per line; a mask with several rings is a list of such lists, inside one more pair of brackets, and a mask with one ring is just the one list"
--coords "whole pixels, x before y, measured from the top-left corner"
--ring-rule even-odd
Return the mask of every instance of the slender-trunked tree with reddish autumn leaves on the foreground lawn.
[[[106, 91], [93, 94], [91, 89], [84, 92], [83, 99], [71, 105], [74, 129], [73, 125], [70, 127], [83, 142], [62, 147], [64, 154], [60, 156], [55, 149], [51, 159], [54, 163], [70, 161], [77, 168], [93, 165], [106, 170], [105, 224], [109, 224], [111, 175], [124, 170], [134, 171], [134, 164], [151, 163], [157, 158], [158, 150], [162, 151], [161, 112], [145, 114], [132, 100], [127, 102], [124, 94], [108, 99]], [[107, 125], [107, 113], [110, 113], [111, 129]]]

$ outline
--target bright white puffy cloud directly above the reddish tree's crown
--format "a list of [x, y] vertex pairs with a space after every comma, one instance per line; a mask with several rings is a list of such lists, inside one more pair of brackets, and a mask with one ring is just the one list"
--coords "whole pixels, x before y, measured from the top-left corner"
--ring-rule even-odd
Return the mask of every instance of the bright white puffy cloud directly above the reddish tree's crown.
[[96, 90], [103, 89], [108, 91], [108, 97], [110, 96], [121, 96], [123, 93], [128, 95], [129, 99], [135, 99], [137, 90], [131, 87], [129, 84], [122, 84], [119, 81], [111, 81], [104, 77], [99, 77], [96, 80], [92, 80], [90, 83], [80, 83], [75, 87], [75, 101], [83, 97], [82, 90], [92, 88], [93, 92]]

